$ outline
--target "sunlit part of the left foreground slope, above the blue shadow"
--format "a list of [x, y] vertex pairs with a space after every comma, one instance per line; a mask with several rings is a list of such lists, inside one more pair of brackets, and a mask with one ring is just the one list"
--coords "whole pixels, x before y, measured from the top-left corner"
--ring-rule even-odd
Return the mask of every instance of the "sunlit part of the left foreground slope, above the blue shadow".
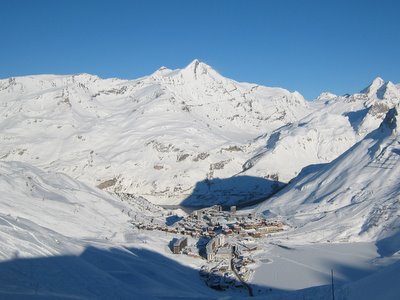
[[2, 259], [14, 251], [18, 257], [59, 254], [69, 239], [121, 241], [132, 217], [145, 213], [67, 175], [25, 163], [0, 162], [0, 173]]

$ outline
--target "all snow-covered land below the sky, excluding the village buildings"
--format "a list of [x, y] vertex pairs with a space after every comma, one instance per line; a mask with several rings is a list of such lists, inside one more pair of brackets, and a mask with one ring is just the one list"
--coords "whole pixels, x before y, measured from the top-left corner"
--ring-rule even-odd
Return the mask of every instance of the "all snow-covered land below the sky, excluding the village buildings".
[[184, 234], [147, 225], [187, 217], [158, 204], [257, 200], [241, 213], [285, 227], [245, 237], [256, 298], [327, 299], [333, 270], [337, 299], [398, 299], [399, 102], [380, 78], [306, 101], [197, 60], [0, 80], [0, 298], [246, 297], [210, 289], [204, 257], [172, 253]]

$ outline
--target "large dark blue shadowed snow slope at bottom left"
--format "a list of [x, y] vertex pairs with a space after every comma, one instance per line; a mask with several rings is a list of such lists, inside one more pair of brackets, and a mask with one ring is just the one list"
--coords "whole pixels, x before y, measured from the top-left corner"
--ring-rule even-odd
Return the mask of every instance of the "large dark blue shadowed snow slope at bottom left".
[[88, 247], [80, 255], [0, 263], [1, 299], [217, 298], [195, 269], [145, 249]]

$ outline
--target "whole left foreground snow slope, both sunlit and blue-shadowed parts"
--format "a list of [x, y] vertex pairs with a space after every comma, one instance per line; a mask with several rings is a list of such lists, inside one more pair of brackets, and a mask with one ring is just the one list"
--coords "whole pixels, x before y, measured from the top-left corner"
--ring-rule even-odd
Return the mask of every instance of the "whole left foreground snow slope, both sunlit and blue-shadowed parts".
[[[66, 175], [0, 162], [1, 299], [210, 299], [170, 236], [135, 231], [149, 213]], [[174, 274], [171, 277], [171, 274]]]

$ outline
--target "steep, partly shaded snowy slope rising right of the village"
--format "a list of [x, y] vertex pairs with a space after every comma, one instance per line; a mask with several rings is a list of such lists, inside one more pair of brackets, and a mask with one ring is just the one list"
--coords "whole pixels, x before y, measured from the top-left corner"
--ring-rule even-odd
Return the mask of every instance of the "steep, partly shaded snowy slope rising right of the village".
[[379, 240], [381, 255], [400, 250], [398, 110], [331, 163], [303, 169], [257, 210], [283, 217], [305, 240]]

